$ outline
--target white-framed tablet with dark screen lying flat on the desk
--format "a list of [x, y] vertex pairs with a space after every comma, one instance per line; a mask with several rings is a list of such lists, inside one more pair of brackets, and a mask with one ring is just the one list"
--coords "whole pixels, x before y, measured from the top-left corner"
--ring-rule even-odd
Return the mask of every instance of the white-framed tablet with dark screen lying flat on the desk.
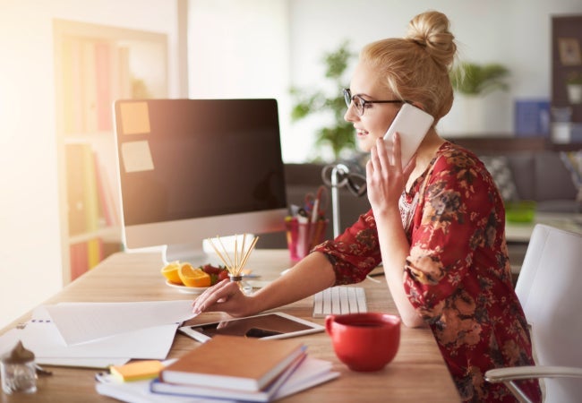
[[258, 339], [287, 339], [317, 333], [325, 328], [287, 313], [275, 312], [182, 326], [178, 330], [193, 339], [205, 342], [217, 334]]

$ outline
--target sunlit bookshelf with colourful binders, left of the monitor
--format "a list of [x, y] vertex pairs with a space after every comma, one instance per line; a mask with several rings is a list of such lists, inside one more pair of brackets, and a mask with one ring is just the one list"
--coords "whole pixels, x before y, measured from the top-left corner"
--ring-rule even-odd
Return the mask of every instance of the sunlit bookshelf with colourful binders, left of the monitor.
[[53, 21], [63, 282], [122, 248], [113, 102], [167, 98], [167, 35]]

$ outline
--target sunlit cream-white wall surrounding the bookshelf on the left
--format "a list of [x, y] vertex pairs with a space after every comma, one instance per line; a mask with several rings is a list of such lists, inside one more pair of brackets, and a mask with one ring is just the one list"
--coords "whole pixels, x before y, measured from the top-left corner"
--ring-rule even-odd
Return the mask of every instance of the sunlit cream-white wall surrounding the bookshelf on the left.
[[169, 36], [175, 2], [0, 0], [0, 327], [62, 287], [56, 182], [53, 18]]

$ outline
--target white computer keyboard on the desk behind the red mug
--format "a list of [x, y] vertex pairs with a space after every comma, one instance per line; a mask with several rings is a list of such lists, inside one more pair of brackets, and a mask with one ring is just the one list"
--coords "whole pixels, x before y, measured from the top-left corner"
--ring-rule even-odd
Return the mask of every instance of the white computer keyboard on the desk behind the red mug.
[[330, 287], [313, 296], [313, 317], [368, 312], [364, 287]]

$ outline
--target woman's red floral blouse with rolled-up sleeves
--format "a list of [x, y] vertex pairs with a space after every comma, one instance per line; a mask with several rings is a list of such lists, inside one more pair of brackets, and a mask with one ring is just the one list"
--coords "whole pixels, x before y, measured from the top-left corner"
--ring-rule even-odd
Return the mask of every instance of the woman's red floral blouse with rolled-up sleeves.
[[[484, 380], [492, 368], [534, 364], [492, 176], [473, 153], [445, 142], [402, 201], [411, 204], [416, 194], [406, 229], [408, 299], [431, 327], [464, 401], [517, 401], [502, 383]], [[337, 285], [364, 280], [381, 262], [372, 210], [314, 250], [332, 262]], [[541, 401], [538, 382], [520, 386]]]

